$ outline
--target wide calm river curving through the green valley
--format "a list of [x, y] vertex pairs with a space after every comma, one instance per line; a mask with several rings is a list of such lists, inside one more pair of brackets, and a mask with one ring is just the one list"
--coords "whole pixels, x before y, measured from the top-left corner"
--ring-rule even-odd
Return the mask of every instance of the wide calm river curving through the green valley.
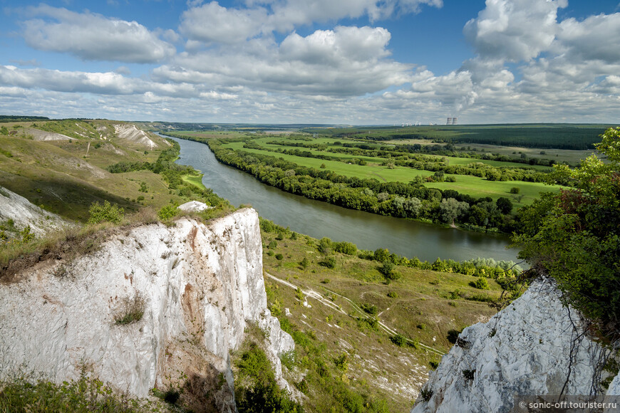
[[507, 236], [443, 228], [306, 199], [217, 162], [205, 144], [175, 140], [181, 145], [177, 162], [204, 173], [205, 187], [236, 206], [252, 205], [260, 216], [288, 226], [291, 231], [319, 239], [327, 236], [332, 241], [351, 241], [358, 249], [387, 248], [423, 261], [435, 261], [438, 257], [456, 261], [477, 257], [517, 261], [517, 251], [506, 249], [510, 243]]

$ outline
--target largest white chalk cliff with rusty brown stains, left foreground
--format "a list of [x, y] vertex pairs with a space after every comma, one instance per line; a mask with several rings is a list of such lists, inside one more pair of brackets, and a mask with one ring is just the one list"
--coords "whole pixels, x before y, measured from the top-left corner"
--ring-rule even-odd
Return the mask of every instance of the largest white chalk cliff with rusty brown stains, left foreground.
[[[267, 310], [253, 209], [208, 225], [183, 218], [118, 229], [97, 252], [62, 261], [0, 284], [0, 379], [22, 371], [61, 382], [86, 369], [138, 397], [193, 382], [215, 394], [219, 411], [234, 412], [229, 352], [254, 322], [288, 388], [278, 355], [294, 342]], [[135, 307], [142, 318], [120, 324]]]

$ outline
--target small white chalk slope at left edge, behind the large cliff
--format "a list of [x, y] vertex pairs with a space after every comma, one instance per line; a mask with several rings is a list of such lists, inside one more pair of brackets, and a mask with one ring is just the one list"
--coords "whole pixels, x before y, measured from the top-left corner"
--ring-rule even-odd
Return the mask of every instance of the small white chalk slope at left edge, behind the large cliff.
[[9, 189], [0, 187], [0, 220], [5, 219], [13, 219], [18, 229], [29, 225], [33, 234], [39, 236], [68, 225], [68, 222], [60, 216], [31, 204], [28, 199]]

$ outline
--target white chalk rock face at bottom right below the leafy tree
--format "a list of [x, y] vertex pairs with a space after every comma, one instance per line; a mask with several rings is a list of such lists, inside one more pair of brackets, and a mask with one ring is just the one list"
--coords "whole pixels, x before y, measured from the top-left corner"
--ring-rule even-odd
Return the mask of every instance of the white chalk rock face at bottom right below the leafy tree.
[[603, 350], [585, 336], [576, 340], [582, 333], [554, 283], [535, 281], [487, 323], [463, 330], [411, 412], [510, 412], [515, 395], [590, 394]]

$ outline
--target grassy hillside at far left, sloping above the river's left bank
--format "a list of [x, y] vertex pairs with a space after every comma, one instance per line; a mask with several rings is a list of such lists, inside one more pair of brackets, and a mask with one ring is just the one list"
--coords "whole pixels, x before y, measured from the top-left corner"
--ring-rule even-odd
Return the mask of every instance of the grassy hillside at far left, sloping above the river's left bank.
[[[170, 189], [161, 174], [148, 170], [108, 172], [106, 168], [118, 162], [155, 162], [171, 147], [157, 135], [150, 135], [157, 145], [153, 149], [120, 138], [114, 126], [122, 123], [62, 120], [10, 125], [7, 132], [16, 134], [0, 135], [0, 186], [77, 221], [88, 219], [93, 202], [107, 200], [127, 211], [185, 202], [187, 193], [184, 197], [180, 189]], [[54, 136], [63, 140], [37, 140], [43, 139], [43, 132], [72, 139]], [[192, 187], [198, 183], [196, 179], [187, 182]]]

